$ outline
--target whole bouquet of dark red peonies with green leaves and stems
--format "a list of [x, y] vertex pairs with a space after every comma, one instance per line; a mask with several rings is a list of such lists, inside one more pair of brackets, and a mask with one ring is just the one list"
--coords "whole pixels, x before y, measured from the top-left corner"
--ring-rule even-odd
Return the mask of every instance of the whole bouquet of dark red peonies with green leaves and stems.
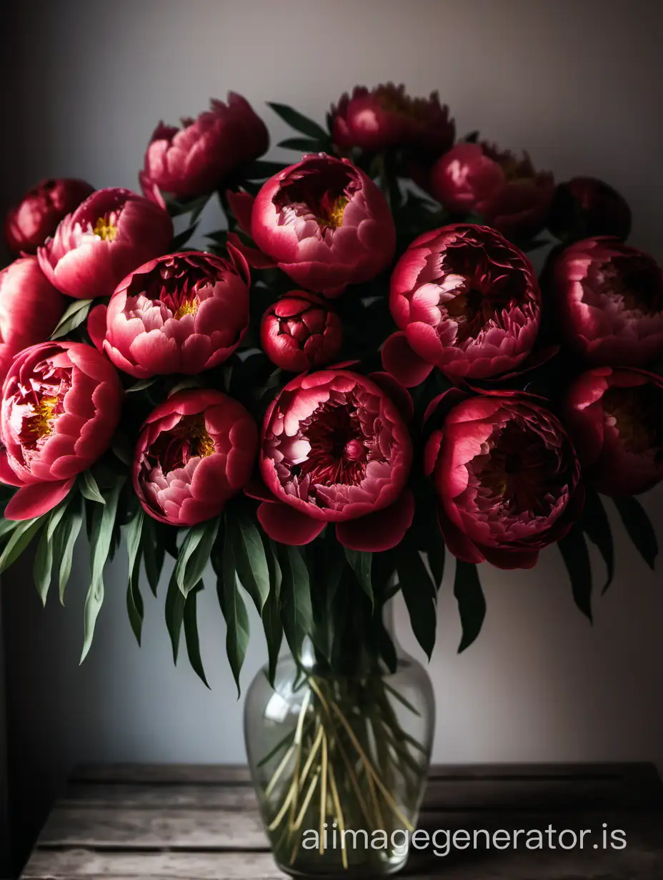
[[[553, 543], [591, 619], [588, 540], [606, 587], [614, 570], [600, 495], [653, 567], [633, 496], [663, 478], [663, 273], [624, 243], [614, 189], [556, 186], [527, 154], [456, 140], [435, 94], [357, 87], [327, 128], [270, 106], [297, 133], [279, 144], [294, 164], [260, 158], [267, 128], [230, 94], [182, 128], [159, 123], [143, 195], [46, 180], [10, 211], [0, 571], [34, 541], [41, 598], [52, 582], [62, 598], [85, 523], [85, 656], [107, 560], [126, 546], [140, 642], [140, 572], [156, 592], [168, 554], [173, 655], [183, 632], [205, 681], [196, 595], [211, 561], [238, 685], [248, 597], [269, 682], [285, 640], [308, 686], [261, 762], [269, 831], [296, 866], [309, 783], [320, 821], [352, 798], [366, 818], [364, 784], [373, 824], [416, 815], [384, 786], [398, 787], [390, 761], [414, 784], [430, 743], [407, 738], [371, 675], [397, 670], [381, 614], [396, 590], [431, 655], [445, 548], [460, 649], [485, 613], [478, 564], [532, 568]], [[213, 197], [225, 228], [188, 249]], [[527, 253], [549, 244], [537, 279]], [[372, 707], [367, 740], [353, 700]]]

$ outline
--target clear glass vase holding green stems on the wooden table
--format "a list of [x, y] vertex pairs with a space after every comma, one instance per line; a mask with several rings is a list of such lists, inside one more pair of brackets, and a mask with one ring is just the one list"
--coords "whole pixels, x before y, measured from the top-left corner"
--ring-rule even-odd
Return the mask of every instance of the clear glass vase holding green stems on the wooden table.
[[285, 657], [247, 693], [245, 737], [276, 864], [291, 876], [387, 876], [407, 862], [435, 707], [411, 657], [353, 675]]

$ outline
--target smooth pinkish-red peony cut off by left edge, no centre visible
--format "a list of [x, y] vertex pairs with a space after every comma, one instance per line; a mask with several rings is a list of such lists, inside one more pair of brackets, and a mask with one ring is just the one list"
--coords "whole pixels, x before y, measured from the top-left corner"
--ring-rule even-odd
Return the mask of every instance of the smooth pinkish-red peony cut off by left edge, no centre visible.
[[36, 257], [14, 260], [0, 271], [0, 384], [18, 352], [48, 339], [63, 311], [64, 297]]

